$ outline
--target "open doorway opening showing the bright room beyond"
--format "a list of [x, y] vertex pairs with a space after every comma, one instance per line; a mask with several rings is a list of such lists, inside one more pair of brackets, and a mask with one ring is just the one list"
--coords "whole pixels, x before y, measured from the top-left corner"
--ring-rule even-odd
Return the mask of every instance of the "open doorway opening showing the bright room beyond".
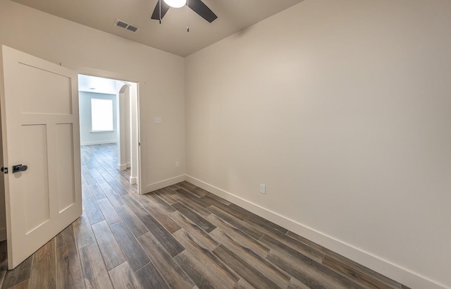
[[78, 94], [82, 185], [139, 194], [137, 82], [79, 74]]

